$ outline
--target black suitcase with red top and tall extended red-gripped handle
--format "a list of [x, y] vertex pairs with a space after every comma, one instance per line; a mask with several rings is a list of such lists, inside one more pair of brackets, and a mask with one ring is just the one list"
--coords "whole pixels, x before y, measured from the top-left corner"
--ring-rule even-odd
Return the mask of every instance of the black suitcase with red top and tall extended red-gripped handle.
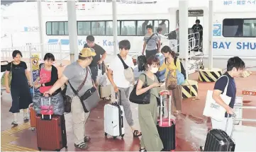
[[[162, 118], [162, 96], [169, 95], [169, 110], [167, 119]], [[171, 96], [169, 90], [163, 90], [160, 92], [160, 119], [157, 120], [157, 130], [164, 146], [164, 151], [174, 150], [176, 144], [176, 124], [174, 119], [170, 119], [171, 115]]]

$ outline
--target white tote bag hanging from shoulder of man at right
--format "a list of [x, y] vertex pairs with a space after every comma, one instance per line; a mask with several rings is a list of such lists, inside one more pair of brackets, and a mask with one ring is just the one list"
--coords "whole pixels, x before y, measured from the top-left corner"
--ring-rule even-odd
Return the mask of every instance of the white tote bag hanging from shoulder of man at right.
[[[223, 75], [223, 76], [226, 76], [226, 75]], [[229, 81], [229, 78], [228, 78], [228, 81]], [[228, 83], [224, 89], [223, 94], [221, 94], [221, 99], [224, 101], [224, 103], [229, 105], [231, 98], [226, 95], [227, 90], [228, 90]], [[213, 90], [208, 90], [207, 96], [206, 96], [206, 105], [204, 107], [203, 115], [206, 117], [211, 117], [216, 121], [222, 121], [225, 118], [225, 113], [226, 113], [225, 108], [222, 107], [221, 105], [218, 105], [218, 103], [216, 103], [216, 101], [213, 100]]]

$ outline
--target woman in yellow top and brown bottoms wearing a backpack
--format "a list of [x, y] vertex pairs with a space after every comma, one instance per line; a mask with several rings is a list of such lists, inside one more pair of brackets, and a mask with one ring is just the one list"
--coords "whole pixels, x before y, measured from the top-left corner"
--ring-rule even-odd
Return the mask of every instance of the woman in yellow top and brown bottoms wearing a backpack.
[[[184, 75], [184, 79], [186, 79], [186, 71], [182, 66], [182, 63], [179, 61], [177, 57], [175, 57], [175, 52], [168, 46], [164, 46], [161, 49], [162, 54], [165, 56], [165, 62], [160, 66], [159, 71], [166, 69], [165, 78], [167, 80], [167, 76], [169, 71], [172, 70], [174, 73], [178, 70], [180, 73]], [[172, 74], [174, 74], [172, 73]], [[174, 76], [174, 78], [177, 76]], [[167, 83], [167, 81], [165, 82]], [[182, 111], [182, 85], [176, 84], [174, 88], [172, 88], [172, 115], [178, 115], [179, 112]]]

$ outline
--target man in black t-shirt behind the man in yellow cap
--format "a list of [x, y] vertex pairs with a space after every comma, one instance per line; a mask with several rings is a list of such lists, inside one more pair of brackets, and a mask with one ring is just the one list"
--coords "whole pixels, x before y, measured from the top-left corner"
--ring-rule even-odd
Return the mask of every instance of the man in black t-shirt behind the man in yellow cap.
[[[96, 56], [93, 57], [93, 60], [89, 65], [91, 69], [92, 79], [94, 80], [94, 82], [96, 82], [96, 78], [98, 76], [98, 68], [101, 68], [101, 66], [99, 67], [99, 64], [102, 64], [104, 62], [104, 59], [106, 59], [106, 51], [101, 46], [94, 43], [94, 36], [92, 35], [87, 36], [87, 44], [84, 45], [84, 48], [85, 47], [92, 48], [96, 52]], [[104, 66], [101, 70], [104, 71], [103, 69]]]

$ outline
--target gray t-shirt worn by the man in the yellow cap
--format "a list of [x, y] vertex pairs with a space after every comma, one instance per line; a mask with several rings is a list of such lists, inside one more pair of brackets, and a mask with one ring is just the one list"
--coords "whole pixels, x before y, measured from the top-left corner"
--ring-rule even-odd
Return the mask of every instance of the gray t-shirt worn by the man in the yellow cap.
[[[93, 86], [91, 81], [91, 69], [89, 68], [89, 66], [87, 67], [89, 72], [87, 76], [87, 81], [85, 81], [82, 89], [79, 90], [79, 96], [84, 95], [84, 93]], [[78, 62], [73, 62], [65, 68], [63, 74], [69, 79], [69, 83], [71, 83], [74, 90], [77, 90], [80, 84], [84, 81], [84, 78], [87, 74], [87, 69], [82, 68], [82, 66], [80, 66]], [[74, 95], [74, 92], [70, 88], [69, 84], [67, 85], [66, 95]]]

